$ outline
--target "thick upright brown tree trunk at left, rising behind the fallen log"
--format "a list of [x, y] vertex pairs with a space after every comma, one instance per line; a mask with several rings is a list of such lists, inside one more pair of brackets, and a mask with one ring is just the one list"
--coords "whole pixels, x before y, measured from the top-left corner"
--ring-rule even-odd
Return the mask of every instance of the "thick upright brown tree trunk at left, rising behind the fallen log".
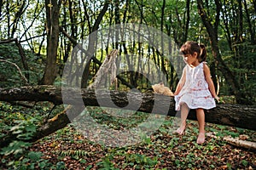
[[57, 52], [59, 42], [59, 13], [60, 7], [57, 0], [45, 0], [46, 31], [47, 31], [47, 59], [44, 77], [41, 84], [52, 85], [57, 76]]

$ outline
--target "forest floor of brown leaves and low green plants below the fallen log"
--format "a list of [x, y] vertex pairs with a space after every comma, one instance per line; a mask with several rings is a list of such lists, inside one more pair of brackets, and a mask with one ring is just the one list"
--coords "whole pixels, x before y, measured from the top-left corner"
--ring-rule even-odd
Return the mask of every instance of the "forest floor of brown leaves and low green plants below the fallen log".
[[[113, 121], [107, 124], [122, 129], [125, 123], [131, 125], [133, 119], [137, 120], [137, 116], [121, 124]], [[102, 112], [97, 117], [102, 123], [110, 118]], [[179, 136], [170, 133], [172, 119], [166, 116], [158, 130], [141, 142], [119, 147], [93, 142], [69, 124], [27, 147], [30, 154], [19, 158], [24, 165], [20, 169], [256, 169], [256, 150], [233, 146], [223, 140], [224, 136], [246, 134], [248, 140], [256, 141], [255, 131], [207, 123], [207, 133], [213, 132], [218, 138], [207, 137], [204, 144], [196, 144], [197, 122], [188, 121], [186, 133]], [[40, 158], [35, 158], [37, 156]], [[0, 168], [12, 169], [8, 162], [14, 157], [0, 155], [0, 158]], [[18, 164], [18, 161], [15, 162]]]

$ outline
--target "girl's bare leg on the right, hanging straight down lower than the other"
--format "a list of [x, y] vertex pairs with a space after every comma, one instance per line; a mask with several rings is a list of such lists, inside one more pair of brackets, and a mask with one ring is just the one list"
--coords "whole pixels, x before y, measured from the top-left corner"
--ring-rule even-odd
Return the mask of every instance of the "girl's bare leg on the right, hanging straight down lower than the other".
[[197, 144], [205, 142], [205, 112], [203, 109], [196, 109], [196, 117], [199, 125], [199, 134], [196, 140]]

